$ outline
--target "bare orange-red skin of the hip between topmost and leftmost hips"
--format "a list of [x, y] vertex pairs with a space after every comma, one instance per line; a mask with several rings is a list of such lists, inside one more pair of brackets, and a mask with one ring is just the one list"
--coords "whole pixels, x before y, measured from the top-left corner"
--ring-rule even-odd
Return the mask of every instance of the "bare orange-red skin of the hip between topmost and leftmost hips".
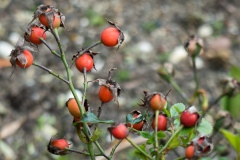
[[28, 40], [33, 44], [41, 44], [42, 41], [39, 38], [44, 40], [47, 38], [45, 31], [40, 27], [32, 27]]

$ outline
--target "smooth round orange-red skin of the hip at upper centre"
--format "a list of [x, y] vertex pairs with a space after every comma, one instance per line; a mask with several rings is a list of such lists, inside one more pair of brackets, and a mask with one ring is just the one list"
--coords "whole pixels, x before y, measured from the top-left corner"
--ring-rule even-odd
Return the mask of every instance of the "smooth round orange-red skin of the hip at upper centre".
[[101, 42], [107, 47], [116, 46], [120, 34], [121, 32], [116, 27], [108, 27], [101, 34]]

